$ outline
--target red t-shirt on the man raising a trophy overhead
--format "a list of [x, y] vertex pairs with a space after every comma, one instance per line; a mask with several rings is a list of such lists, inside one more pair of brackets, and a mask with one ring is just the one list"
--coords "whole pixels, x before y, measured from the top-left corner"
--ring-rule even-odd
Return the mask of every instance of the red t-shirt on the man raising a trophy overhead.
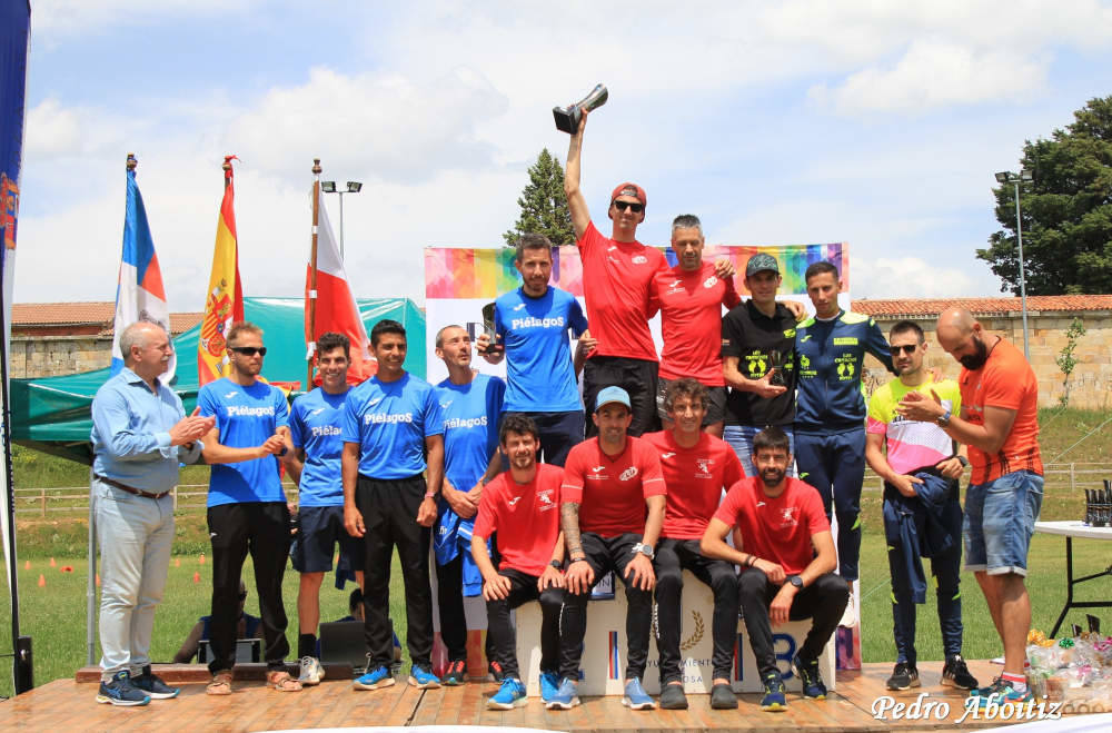
[[587, 225], [579, 247], [587, 323], [598, 346], [589, 356], [623, 356], [656, 361], [656, 346], [648, 330], [654, 313], [648, 305], [653, 276], [667, 269], [668, 260], [655, 247], [639, 241], [604, 237]]

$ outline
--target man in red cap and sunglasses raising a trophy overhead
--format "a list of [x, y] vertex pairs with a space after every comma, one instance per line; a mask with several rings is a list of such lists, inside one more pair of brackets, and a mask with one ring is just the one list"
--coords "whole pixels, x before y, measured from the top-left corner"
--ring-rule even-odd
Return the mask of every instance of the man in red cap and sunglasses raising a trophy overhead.
[[[597, 339], [583, 370], [583, 403], [594, 405], [599, 390], [622, 387], [629, 395], [633, 422], [629, 435], [655, 429], [657, 357], [648, 330], [649, 286], [667, 260], [655, 247], [637, 241], [637, 225], [645, 220], [645, 189], [620, 184], [610, 194], [606, 216], [614, 222], [610, 236], [595, 228], [587, 199], [579, 190], [579, 153], [587, 125], [584, 110], [578, 131], [572, 136], [564, 170], [564, 192], [572, 212], [576, 246], [583, 259], [583, 290], [587, 320]], [[597, 428], [588, 423], [587, 434]]]

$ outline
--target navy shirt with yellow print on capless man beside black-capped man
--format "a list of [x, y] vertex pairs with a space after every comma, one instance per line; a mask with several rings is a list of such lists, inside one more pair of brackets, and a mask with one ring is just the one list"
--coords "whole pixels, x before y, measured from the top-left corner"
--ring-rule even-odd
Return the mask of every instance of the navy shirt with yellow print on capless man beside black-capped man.
[[796, 326], [796, 430], [864, 429], [861, 373], [866, 353], [893, 370], [888, 343], [870, 316], [840, 310], [831, 320], [811, 317]]

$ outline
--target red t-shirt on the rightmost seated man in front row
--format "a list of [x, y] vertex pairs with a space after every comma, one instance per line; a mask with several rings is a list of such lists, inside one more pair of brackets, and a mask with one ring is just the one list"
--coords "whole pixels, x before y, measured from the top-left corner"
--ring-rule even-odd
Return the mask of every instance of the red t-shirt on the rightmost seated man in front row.
[[758, 476], [743, 478], [726, 493], [714, 517], [742, 531], [744, 552], [798, 575], [815, 557], [811, 537], [830, 532], [831, 525], [814, 486], [798, 478], [784, 481], [784, 493], [768, 498]]

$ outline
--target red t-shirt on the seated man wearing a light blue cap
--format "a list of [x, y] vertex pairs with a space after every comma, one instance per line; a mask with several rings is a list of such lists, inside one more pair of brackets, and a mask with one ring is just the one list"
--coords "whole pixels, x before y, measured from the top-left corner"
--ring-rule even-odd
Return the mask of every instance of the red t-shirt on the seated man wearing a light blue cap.
[[602, 537], [641, 534], [645, 531], [645, 499], [664, 494], [661, 459], [641, 438], [627, 437], [625, 450], [616, 456], [603, 453], [597, 437], [567, 454], [560, 497], [579, 505], [580, 532]]

